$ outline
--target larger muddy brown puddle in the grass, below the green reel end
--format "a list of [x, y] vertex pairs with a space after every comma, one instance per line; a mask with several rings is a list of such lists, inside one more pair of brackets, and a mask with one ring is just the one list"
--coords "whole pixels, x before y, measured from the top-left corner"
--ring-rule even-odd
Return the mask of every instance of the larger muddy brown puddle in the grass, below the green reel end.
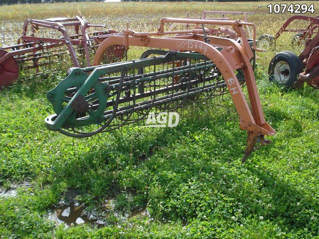
[[[130, 213], [121, 213], [115, 210], [116, 200], [105, 200], [101, 207], [87, 210], [83, 205], [77, 202], [62, 204], [52, 210], [49, 218], [57, 224], [65, 224], [66, 227], [77, 226], [80, 224], [91, 224], [98, 228], [114, 223], [114, 217], [118, 221], [127, 221], [133, 217], [149, 217], [146, 208], [132, 211]], [[109, 220], [113, 217], [112, 220]]]

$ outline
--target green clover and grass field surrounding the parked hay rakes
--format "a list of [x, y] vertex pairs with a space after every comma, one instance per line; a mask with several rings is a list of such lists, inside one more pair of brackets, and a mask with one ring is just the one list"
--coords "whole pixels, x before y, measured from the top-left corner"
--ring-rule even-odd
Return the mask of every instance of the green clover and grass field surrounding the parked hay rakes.
[[[108, 28], [121, 30], [129, 22], [131, 29], [154, 31], [163, 16], [254, 10], [258, 4], [263, 7], [249, 17], [258, 36], [274, 35], [291, 16], [267, 13], [267, 2], [0, 6], [0, 45], [16, 41], [25, 18], [82, 14]], [[313, 15], [319, 15], [318, 9], [316, 2]], [[0, 238], [319, 238], [319, 91], [306, 85], [287, 91], [267, 76], [277, 52], [300, 51], [291, 46], [291, 38], [287, 33], [276, 47], [258, 53], [258, 90], [266, 120], [277, 134], [245, 164], [246, 132], [239, 129], [229, 96], [183, 110], [175, 128], [133, 124], [73, 139], [44, 125], [53, 114], [46, 92], [65, 71], [23, 83], [21, 77], [2, 90]], [[102, 214], [103, 202], [112, 199], [115, 206], [103, 217], [106, 226], [66, 227], [52, 221], [50, 212], [70, 192], [87, 211]], [[149, 216], [139, 215], [143, 210]]]

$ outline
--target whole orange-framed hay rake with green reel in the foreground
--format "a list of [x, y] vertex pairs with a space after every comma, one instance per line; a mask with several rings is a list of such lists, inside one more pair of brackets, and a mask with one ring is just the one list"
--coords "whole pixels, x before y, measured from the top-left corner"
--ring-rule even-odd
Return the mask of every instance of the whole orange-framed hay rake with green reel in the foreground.
[[[174, 22], [231, 26], [239, 38], [207, 36], [204, 27], [165, 32], [164, 24]], [[146, 119], [151, 111], [173, 111], [229, 92], [240, 128], [248, 131], [245, 161], [257, 140], [267, 144], [264, 135], [275, 134], [264, 119], [257, 92], [250, 63], [253, 49], [257, 50], [256, 34], [254, 40], [247, 40], [243, 29], [247, 25], [255, 33], [254, 24], [240, 21], [162, 18], [158, 32], [127, 29], [123, 35], [108, 37], [96, 51], [96, 66], [73, 68], [47, 93], [55, 111], [45, 119], [47, 128], [88, 137]], [[100, 65], [114, 45], [124, 45], [126, 51], [130, 46], [155, 49], [148, 49], [141, 59]], [[244, 83], [251, 110], [241, 89]]]

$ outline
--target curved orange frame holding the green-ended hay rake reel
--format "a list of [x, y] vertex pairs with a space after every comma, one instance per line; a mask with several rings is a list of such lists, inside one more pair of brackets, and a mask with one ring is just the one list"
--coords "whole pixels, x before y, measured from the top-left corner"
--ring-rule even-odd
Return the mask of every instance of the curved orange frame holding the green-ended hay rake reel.
[[[164, 23], [194, 23], [206, 25], [230, 25], [237, 33], [239, 40], [226, 39], [199, 34], [203, 30], [185, 31], [182, 36], [166, 36], [176, 32], [164, 32]], [[232, 97], [240, 118], [239, 126], [248, 131], [248, 146], [245, 150], [246, 157], [252, 152], [257, 139], [260, 143], [267, 144], [270, 141], [264, 139], [264, 135], [274, 135], [275, 130], [265, 121], [264, 113], [261, 107], [260, 98], [257, 91], [253, 69], [250, 59], [253, 57], [253, 50], [247, 40], [243, 25], [253, 27], [253, 49], [256, 49], [256, 28], [253, 23], [228, 21], [228, 20], [201, 20], [201, 19], [181, 19], [181, 18], [161, 18], [158, 32], [134, 32], [124, 30], [124, 35], [114, 35], [105, 39], [97, 49], [94, 65], [100, 65], [101, 59], [106, 49], [112, 45], [123, 44], [125, 49], [129, 46], [141, 46], [152, 48], [176, 49], [179, 51], [195, 51], [207, 56], [220, 70], [228, 90]], [[178, 32], [180, 33], [180, 31]], [[188, 33], [188, 34], [186, 34]], [[163, 37], [152, 37], [163, 36]], [[206, 41], [206, 42], [205, 42]], [[240, 43], [239, 43], [240, 42]], [[221, 50], [220, 50], [221, 49]], [[235, 70], [242, 69], [250, 101], [251, 109], [246, 101]]]

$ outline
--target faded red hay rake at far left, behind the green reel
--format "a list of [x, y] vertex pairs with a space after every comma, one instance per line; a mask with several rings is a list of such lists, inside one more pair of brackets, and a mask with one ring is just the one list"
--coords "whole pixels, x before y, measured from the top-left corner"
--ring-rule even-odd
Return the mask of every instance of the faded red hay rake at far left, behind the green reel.
[[[17, 44], [0, 47], [0, 87], [9, 86], [16, 81], [19, 68], [35, 69], [38, 73], [43, 66], [61, 62], [63, 55], [70, 56], [74, 67], [81, 65], [78, 55], [85, 58], [87, 66], [91, 66], [90, 51], [94, 51], [104, 39], [117, 32], [88, 31], [89, 28], [105, 26], [92, 25], [83, 16], [46, 20], [26, 19]], [[110, 62], [115, 58], [121, 59], [124, 55], [124, 50], [118, 46], [109, 51]], [[111, 56], [115, 56], [114, 59], [111, 59]]]

